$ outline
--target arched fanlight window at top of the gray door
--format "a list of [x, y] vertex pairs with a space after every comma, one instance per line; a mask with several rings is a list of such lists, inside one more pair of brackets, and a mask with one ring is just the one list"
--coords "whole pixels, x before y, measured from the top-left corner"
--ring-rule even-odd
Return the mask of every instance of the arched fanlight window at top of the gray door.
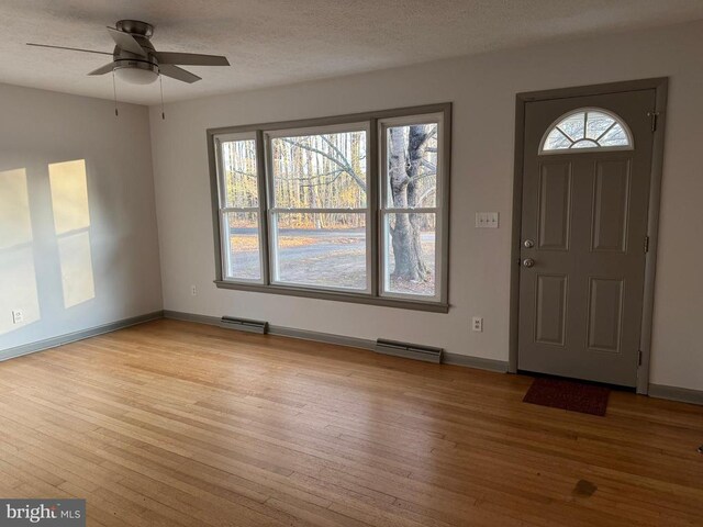
[[559, 117], [547, 130], [540, 154], [560, 154], [572, 148], [633, 149], [629, 128], [617, 115], [600, 108], [581, 108]]

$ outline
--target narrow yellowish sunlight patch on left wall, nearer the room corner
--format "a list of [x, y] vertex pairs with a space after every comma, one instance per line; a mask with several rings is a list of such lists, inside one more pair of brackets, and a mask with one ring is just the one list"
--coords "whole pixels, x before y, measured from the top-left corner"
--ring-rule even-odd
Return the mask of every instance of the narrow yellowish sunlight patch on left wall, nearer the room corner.
[[90, 209], [86, 161], [55, 162], [48, 166], [54, 209], [54, 228], [62, 267], [64, 307], [96, 298], [90, 250]]

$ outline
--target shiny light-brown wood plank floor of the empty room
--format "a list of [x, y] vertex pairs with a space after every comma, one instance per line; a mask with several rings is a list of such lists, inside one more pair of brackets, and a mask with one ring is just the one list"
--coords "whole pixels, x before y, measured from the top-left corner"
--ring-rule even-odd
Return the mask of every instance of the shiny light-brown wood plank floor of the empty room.
[[157, 321], [0, 363], [0, 497], [90, 526], [703, 525], [703, 408]]

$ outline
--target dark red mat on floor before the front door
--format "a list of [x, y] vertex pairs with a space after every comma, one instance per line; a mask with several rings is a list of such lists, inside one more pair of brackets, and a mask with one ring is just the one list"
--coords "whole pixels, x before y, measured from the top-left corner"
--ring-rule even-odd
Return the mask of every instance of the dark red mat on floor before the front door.
[[610, 393], [611, 391], [604, 386], [563, 379], [537, 378], [527, 390], [523, 402], [582, 414], [605, 415]]

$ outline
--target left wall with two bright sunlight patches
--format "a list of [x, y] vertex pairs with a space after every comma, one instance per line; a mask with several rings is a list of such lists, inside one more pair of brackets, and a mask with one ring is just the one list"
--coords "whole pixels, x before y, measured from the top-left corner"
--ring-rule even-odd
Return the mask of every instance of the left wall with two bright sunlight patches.
[[161, 310], [148, 110], [0, 85], [0, 350]]

